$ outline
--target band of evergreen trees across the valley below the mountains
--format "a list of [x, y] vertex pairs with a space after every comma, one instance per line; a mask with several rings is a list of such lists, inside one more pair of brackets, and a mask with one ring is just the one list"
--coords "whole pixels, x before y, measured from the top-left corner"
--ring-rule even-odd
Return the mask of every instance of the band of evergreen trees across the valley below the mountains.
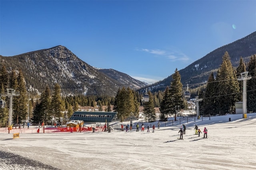
[[[202, 98], [200, 102], [200, 114], [226, 114], [234, 113], [235, 102], [242, 101], [242, 81], [238, 81], [240, 73], [248, 70], [252, 76], [247, 81], [247, 107], [248, 112], [256, 112], [256, 55], [250, 57], [248, 64], [245, 64], [242, 57], [237, 68], [234, 68], [230, 61], [228, 52], [222, 56], [222, 64], [216, 73], [210, 73], [206, 84], [197, 89], [191, 89], [191, 93]], [[62, 96], [61, 87], [56, 83], [53, 89], [47, 85], [42, 93], [31, 88], [30, 99], [22, 71], [12, 70], [7, 72], [6, 67], [0, 70], [0, 93], [5, 94], [7, 88], [20, 92], [20, 96], [13, 98], [13, 123], [33, 123], [60, 121], [62, 117], [67, 119], [79, 107], [98, 106], [99, 111], [117, 111], [121, 121], [128, 117], [139, 116], [139, 106], [143, 106], [143, 115], [148, 122], [156, 120], [154, 107], [160, 109], [160, 120], [164, 121], [168, 115], [175, 114], [178, 109], [187, 109], [188, 104], [184, 99], [184, 88], [181, 83], [181, 76], [176, 68], [172, 74], [170, 86], [158, 92], [148, 92], [149, 101], [143, 100], [143, 94], [130, 88], [119, 88], [116, 96], [106, 95], [69, 95]], [[0, 127], [8, 124], [8, 98], [1, 96], [7, 102], [7, 107], [0, 109]], [[28, 107], [29, 106], [29, 107]], [[107, 106], [103, 110], [102, 106]], [[113, 106], [113, 109], [111, 109]], [[29, 111], [28, 111], [29, 108]], [[29, 113], [29, 115], [28, 115]]]

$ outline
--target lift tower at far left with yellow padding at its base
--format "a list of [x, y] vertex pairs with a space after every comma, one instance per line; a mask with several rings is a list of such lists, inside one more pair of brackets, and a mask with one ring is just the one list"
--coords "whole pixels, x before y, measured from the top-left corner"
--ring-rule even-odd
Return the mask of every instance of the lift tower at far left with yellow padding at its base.
[[20, 96], [20, 92], [16, 92], [14, 89], [8, 88], [7, 93], [2, 95], [10, 98], [9, 101], [9, 118], [8, 118], [8, 133], [12, 130], [12, 98], [13, 96]]

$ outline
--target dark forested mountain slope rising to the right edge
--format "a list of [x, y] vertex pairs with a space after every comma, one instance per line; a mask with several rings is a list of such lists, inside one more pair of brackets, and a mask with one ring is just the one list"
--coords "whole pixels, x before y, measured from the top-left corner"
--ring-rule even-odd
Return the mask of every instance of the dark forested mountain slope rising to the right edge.
[[[231, 63], [234, 67], [238, 66], [240, 57], [243, 58], [244, 62], [248, 63], [250, 56], [256, 54], [256, 32], [233, 43], [224, 45], [188, 65], [186, 68], [179, 70], [184, 88], [186, 84], [189, 84], [190, 88], [196, 88], [202, 85], [202, 83], [207, 82], [211, 72], [214, 72], [216, 75], [222, 63], [222, 56], [226, 51], [228, 51]], [[172, 76], [170, 75], [164, 80], [150, 85], [148, 89], [150, 89], [151, 92], [164, 90], [166, 86], [170, 86], [171, 81]]]

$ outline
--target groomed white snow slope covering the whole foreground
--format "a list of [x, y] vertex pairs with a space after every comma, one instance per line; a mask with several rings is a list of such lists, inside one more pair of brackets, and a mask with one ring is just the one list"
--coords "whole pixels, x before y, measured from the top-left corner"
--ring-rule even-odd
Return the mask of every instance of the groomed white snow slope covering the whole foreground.
[[[231, 120], [231, 121], [230, 121]], [[141, 131], [142, 122], [145, 130]], [[140, 131], [135, 126], [139, 123]], [[130, 121], [123, 122], [124, 125]], [[152, 133], [152, 126], [156, 125]], [[178, 131], [186, 125], [184, 140]], [[61, 170], [255, 170], [256, 113], [146, 123], [133, 121], [133, 129], [121, 131], [120, 122], [110, 123], [111, 133], [36, 133], [38, 127], [0, 128], [0, 169]], [[150, 132], [147, 132], [147, 126]], [[198, 125], [208, 129], [208, 138], [194, 135]], [[20, 138], [12, 139], [13, 133]], [[22, 162], [26, 162], [26, 165]], [[33, 162], [35, 161], [35, 162]]]

